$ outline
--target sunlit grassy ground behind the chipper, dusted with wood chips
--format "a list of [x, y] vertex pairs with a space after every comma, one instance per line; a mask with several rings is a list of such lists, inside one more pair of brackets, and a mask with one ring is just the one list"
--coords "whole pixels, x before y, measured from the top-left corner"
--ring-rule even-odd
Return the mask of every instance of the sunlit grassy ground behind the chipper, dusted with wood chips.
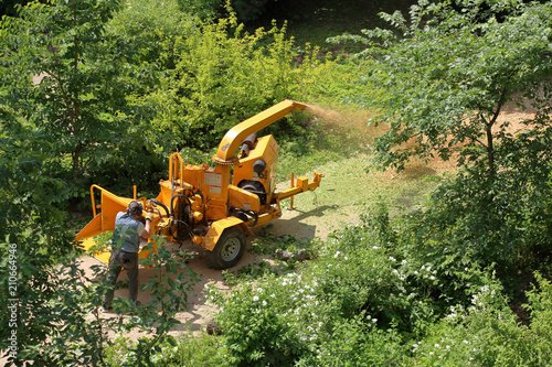
[[[295, 197], [298, 220], [304, 226], [316, 228], [311, 229], [316, 231], [312, 235], [325, 238], [333, 229], [358, 223], [360, 215], [380, 201], [389, 205], [392, 215], [412, 211], [436, 187], [442, 174], [454, 172], [454, 162], [438, 160], [412, 162], [401, 173], [367, 172], [373, 139], [385, 130], [384, 127], [365, 126], [372, 114], [351, 106], [309, 106], [309, 110], [327, 133], [320, 138], [325, 141], [323, 149], [291, 160], [284, 158], [280, 165], [286, 173], [295, 170], [309, 179], [314, 171], [325, 175], [317, 191]], [[280, 188], [288, 185], [286, 177]]]

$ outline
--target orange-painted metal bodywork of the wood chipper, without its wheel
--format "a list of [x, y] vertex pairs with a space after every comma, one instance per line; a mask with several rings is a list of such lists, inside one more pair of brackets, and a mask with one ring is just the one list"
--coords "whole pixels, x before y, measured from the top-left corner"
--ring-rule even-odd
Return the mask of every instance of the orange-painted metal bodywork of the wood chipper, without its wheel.
[[[117, 196], [98, 185], [92, 185], [91, 197], [94, 218], [76, 235], [76, 241], [85, 250], [89, 250], [96, 244], [95, 237], [115, 229], [117, 213], [124, 212], [131, 201], [141, 202], [147, 211], [155, 207], [152, 203], [164, 207], [166, 215], [162, 215], [160, 211], [155, 213], [156, 215], [151, 223], [151, 233], [166, 235], [168, 240], [178, 240], [178, 238], [173, 237], [171, 229], [174, 220], [170, 218], [173, 215], [172, 206], [176, 196], [185, 196], [189, 204], [187, 211], [190, 218], [204, 224], [203, 233], [194, 233], [189, 236], [192, 242], [213, 251], [219, 239], [229, 228], [237, 227], [244, 233], [253, 235], [251, 228], [265, 225], [282, 216], [282, 201], [289, 198], [293, 207], [294, 196], [307, 191], [315, 191], [320, 185], [323, 175], [315, 173], [312, 182], [309, 182], [307, 177], [297, 177], [295, 180], [294, 175], [291, 175], [290, 187], [283, 192], [275, 192], [276, 176], [273, 174], [270, 181], [267, 179], [264, 182], [269, 190], [267, 190], [266, 202], [261, 203], [256, 194], [238, 187], [241, 180], [252, 176], [252, 164], [258, 156], [253, 154], [248, 158], [238, 158], [236, 156], [236, 152], [244, 140], [252, 133], [269, 126], [290, 111], [302, 110], [305, 108], [305, 104], [284, 100], [236, 125], [226, 132], [216, 154], [213, 155], [213, 161], [216, 163], [214, 168], [210, 168], [206, 164], [185, 164], [179, 153], [171, 154], [169, 159], [169, 180], [161, 180], [161, 192], [153, 201], [148, 201], [145, 197], [137, 198], [136, 186], [134, 186], [134, 197], [130, 198]], [[258, 152], [256, 154], [263, 154], [263, 159], [275, 162], [278, 149], [274, 138], [267, 136], [256, 141], [254, 151]], [[232, 166], [234, 166], [234, 170], [232, 170]], [[234, 171], [233, 175], [232, 171]], [[100, 194], [99, 205], [95, 203], [95, 191], [99, 191]], [[171, 207], [170, 215], [167, 207]], [[248, 223], [243, 218], [230, 216], [229, 207], [248, 208], [256, 213], [256, 220]], [[100, 212], [97, 213], [97, 209], [100, 209]], [[153, 239], [150, 238], [150, 241], [153, 241]], [[157, 250], [155, 241], [152, 245], [153, 250]], [[109, 253], [107, 250], [99, 251], [95, 253], [95, 257], [104, 262], [108, 262]], [[148, 251], [140, 251], [139, 253], [140, 258], [147, 256]]]

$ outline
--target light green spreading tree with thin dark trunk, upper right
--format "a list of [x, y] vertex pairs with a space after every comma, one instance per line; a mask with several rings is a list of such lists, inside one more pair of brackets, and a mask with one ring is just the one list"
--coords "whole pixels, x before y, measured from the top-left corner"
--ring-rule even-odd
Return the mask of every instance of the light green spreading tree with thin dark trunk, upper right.
[[516, 139], [497, 121], [507, 104], [534, 109], [526, 129], [548, 133], [551, 15], [550, 2], [422, 0], [408, 20], [382, 14], [395, 31], [331, 39], [365, 43], [363, 56], [376, 61], [368, 76], [388, 97], [373, 104], [382, 115], [372, 122], [390, 129], [376, 139], [375, 163], [403, 169], [413, 155], [448, 160], [460, 150], [460, 164], [482, 161], [493, 176], [498, 144]]

